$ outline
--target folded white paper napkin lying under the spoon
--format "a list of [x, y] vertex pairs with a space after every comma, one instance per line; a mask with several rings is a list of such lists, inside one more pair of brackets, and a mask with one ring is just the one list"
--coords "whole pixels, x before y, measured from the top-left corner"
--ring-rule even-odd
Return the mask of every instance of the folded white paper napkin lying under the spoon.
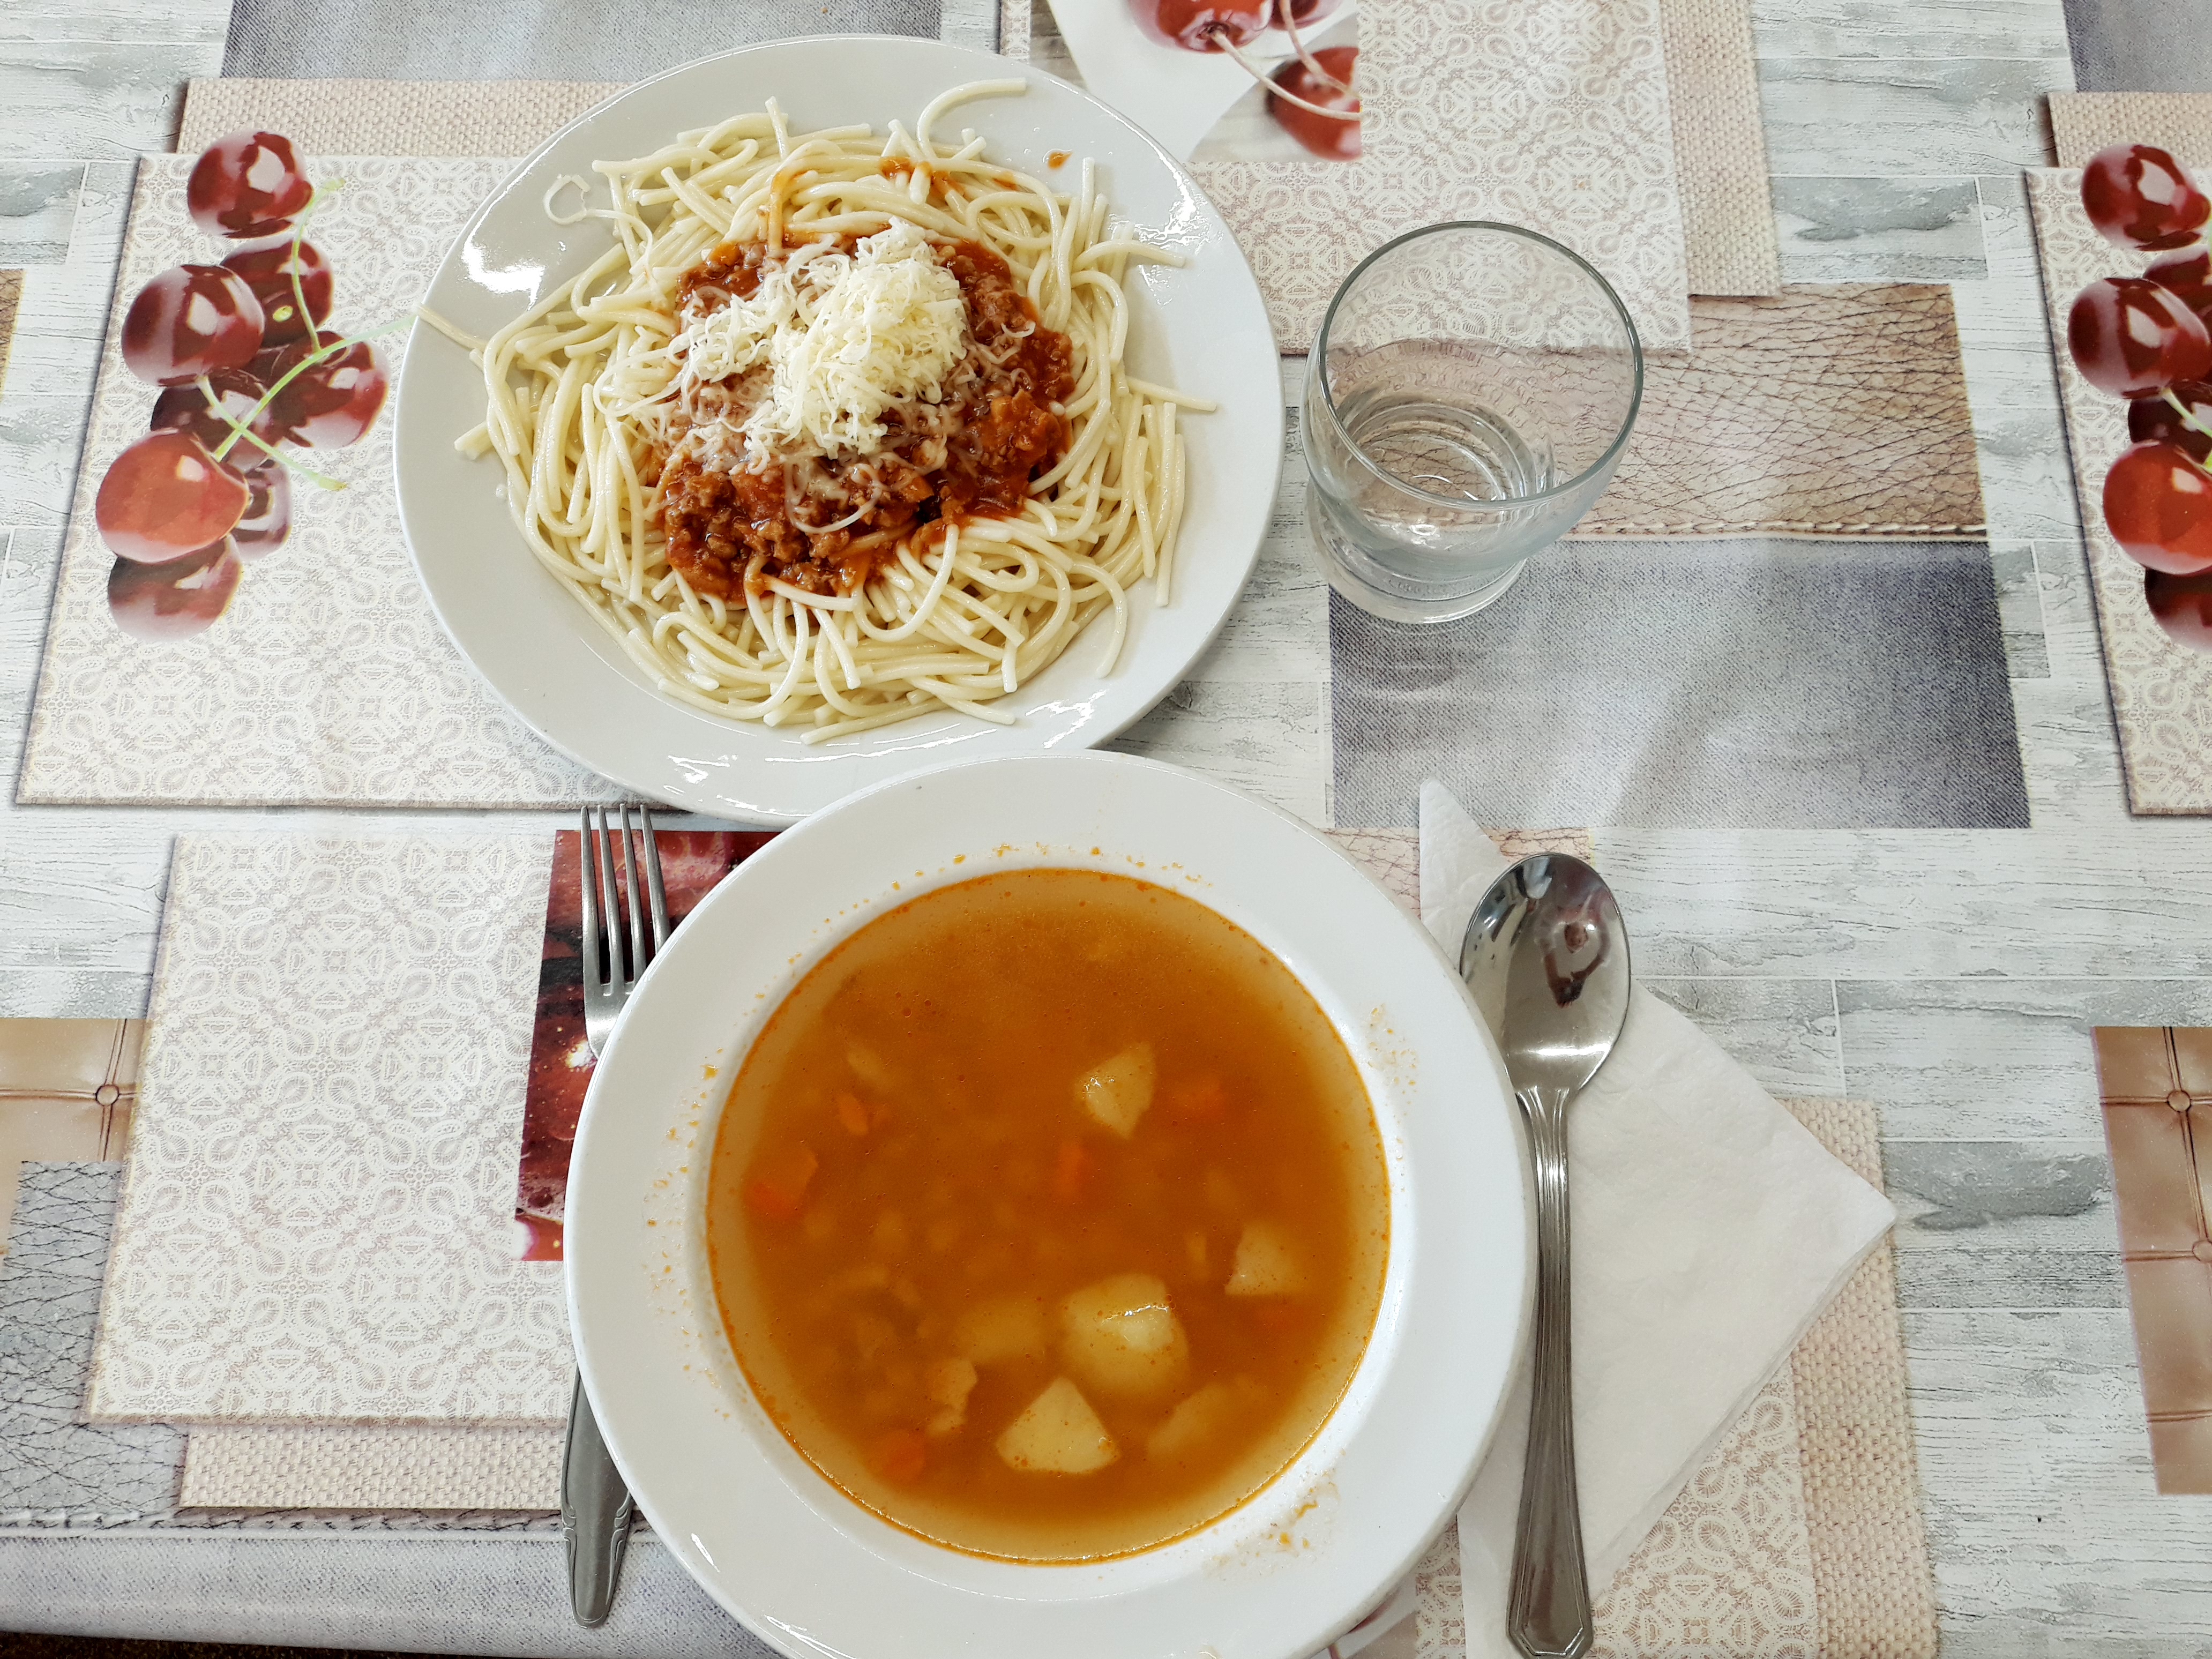
[[[1451, 960], [1506, 860], [1420, 790], [1420, 916]], [[1635, 960], [1635, 914], [1626, 916]], [[1590, 1599], [1606, 1593], [1896, 1210], [1644, 989], [1568, 1108], [1575, 1458]], [[1528, 1374], [1460, 1509], [1467, 1655], [1511, 1655], [1506, 1584]]]

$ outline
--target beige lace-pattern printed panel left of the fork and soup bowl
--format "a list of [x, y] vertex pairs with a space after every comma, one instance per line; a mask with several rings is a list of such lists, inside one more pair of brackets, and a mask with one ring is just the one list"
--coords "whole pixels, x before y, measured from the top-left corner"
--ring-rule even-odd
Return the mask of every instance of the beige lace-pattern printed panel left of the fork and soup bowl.
[[93, 1420], [562, 1422], [513, 1181], [551, 836], [179, 836]]

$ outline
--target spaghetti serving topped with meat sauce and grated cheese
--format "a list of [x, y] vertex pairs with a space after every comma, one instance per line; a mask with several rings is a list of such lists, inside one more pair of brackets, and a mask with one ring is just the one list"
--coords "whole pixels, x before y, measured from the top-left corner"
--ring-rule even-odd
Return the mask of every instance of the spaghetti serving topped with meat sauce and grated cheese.
[[[564, 177], [613, 246], [478, 347], [538, 560], [668, 695], [810, 741], [995, 699], [1110, 615], [1168, 602], [1179, 407], [1124, 367], [1137, 261], [1091, 161], [1073, 195], [907, 133], [765, 113]], [[562, 212], [555, 212], [555, 210]]]

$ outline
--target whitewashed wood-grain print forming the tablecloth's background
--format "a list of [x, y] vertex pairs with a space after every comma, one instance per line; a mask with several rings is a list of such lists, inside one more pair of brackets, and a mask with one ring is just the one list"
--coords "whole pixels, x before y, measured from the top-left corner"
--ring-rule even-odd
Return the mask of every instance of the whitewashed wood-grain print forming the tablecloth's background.
[[[949, 0], [987, 44], [995, 4]], [[2212, 1024], [2212, 830], [2126, 812], [2017, 168], [2070, 86], [2059, 0], [1759, 0], [1794, 265], [1955, 281], [2028, 832], [1599, 827], [1648, 982], [1776, 1093], [1882, 1106], [1944, 1648], [2212, 1650], [2212, 1500], [2159, 1500], [2117, 1265], [2093, 1024]], [[0, 168], [82, 166], [0, 387], [0, 754], [22, 743], [131, 157], [221, 64], [228, 0], [0, 7]], [[13, 173], [0, 173], [0, 179]], [[1854, 215], [1858, 215], [1854, 219]], [[51, 226], [53, 217], [40, 221]], [[1913, 261], [1922, 261], [1913, 265]], [[1285, 363], [1296, 403], [1303, 369]], [[1194, 679], [1121, 748], [1327, 823], [1327, 591], [1303, 462]], [[177, 830], [484, 814], [0, 803], [0, 1015], [144, 1009]], [[498, 823], [555, 823], [498, 816]]]

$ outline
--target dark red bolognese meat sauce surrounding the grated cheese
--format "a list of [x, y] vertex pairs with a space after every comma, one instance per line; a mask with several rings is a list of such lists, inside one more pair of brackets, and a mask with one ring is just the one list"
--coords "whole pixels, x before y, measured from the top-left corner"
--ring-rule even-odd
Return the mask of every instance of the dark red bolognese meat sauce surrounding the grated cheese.
[[[849, 252], [854, 239], [841, 239]], [[668, 564], [695, 593], [741, 599], [748, 575], [807, 593], [852, 593], [896, 553], [916, 524], [945, 518], [1011, 518], [1029, 484], [1068, 447], [1066, 398], [1075, 392], [1068, 336], [1037, 321], [1006, 261], [960, 241], [938, 246], [960, 283], [967, 354], [933, 405], [894, 407], [872, 453], [748, 458], [723, 467], [699, 442], [677, 442], [661, 469]], [[721, 243], [677, 285], [679, 314], [750, 299], [770, 254], [763, 243]], [[686, 416], [743, 418], [732, 376], [697, 387]]]

